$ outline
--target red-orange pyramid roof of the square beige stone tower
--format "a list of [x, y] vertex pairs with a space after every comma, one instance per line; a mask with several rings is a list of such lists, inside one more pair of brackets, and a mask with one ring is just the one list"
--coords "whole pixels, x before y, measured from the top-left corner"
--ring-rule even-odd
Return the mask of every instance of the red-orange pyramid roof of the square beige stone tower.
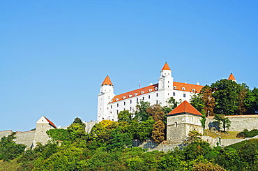
[[176, 107], [174, 110], [169, 112], [169, 115], [179, 115], [179, 114], [193, 114], [193, 115], [198, 115], [202, 116], [202, 114], [195, 109], [188, 101], [183, 101], [178, 107]]

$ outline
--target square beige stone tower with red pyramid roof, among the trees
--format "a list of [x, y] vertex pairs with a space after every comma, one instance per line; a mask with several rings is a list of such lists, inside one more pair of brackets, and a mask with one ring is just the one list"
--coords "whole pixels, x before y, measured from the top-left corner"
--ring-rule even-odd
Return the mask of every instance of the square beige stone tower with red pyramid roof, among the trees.
[[193, 130], [203, 134], [200, 119], [202, 114], [190, 103], [183, 101], [167, 114], [167, 142], [179, 144], [186, 140], [188, 133]]

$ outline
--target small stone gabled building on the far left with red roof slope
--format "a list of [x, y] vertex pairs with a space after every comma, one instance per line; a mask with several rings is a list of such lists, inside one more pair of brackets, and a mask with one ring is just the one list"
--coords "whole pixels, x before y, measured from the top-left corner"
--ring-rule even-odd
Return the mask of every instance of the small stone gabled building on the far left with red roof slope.
[[54, 128], [56, 128], [56, 126], [53, 124], [52, 121], [50, 121], [44, 116], [40, 117], [40, 119], [36, 121], [34, 143], [41, 142], [42, 144], [46, 144], [47, 141], [50, 140], [50, 137], [48, 137], [47, 135], [47, 131]]

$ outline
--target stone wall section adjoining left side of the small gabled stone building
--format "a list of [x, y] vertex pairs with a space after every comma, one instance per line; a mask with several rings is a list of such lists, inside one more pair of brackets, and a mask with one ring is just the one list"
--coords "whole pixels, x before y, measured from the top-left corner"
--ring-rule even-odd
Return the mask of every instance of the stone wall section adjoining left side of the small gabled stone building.
[[17, 144], [24, 144], [26, 147], [33, 146], [35, 131], [17, 132], [15, 142]]

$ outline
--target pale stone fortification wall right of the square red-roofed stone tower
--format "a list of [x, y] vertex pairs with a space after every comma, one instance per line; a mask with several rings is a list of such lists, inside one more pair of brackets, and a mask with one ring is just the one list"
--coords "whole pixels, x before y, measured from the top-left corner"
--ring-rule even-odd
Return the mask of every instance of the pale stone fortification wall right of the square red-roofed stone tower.
[[[258, 129], [258, 115], [256, 114], [250, 114], [250, 115], [232, 115], [227, 116], [230, 121], [232, 121], [231, 126], [226, 131], [243, 131], [244, 129], [248, 129], [248, 131], [251, 131], [252, 129]], [[215, 127], [217, 129], [218, 126], [215, 126], [215, 124], [212, 124], [214, 121], [213, 117], [206, 117], [206, 126], [205, 128], [211, 129], [212, 127]]]

